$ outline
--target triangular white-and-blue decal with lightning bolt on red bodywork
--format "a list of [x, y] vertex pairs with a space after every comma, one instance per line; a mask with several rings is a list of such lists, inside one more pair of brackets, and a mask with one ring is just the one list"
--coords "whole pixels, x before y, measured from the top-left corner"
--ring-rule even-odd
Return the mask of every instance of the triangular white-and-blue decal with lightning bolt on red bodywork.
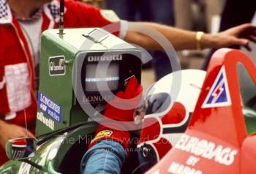
[[208, 93], [205, 102], [203, 102], [202, 108], [224, 107], [230, 105], [230, 91], [227, 84], [225, 67], [223, 66], [214, 81], [214, 85], [211, 86], [211, 90]]

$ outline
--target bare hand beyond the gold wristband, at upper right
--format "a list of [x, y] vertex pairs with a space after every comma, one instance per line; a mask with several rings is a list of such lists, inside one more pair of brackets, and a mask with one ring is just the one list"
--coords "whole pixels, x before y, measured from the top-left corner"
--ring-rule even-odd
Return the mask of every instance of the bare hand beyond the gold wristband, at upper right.
[[[205, 34], [204, 39], [207, 40], [209, 35], [211, 34]], [[256, 42], [256, 26], [246, 23], [211, 35], [211, 42], [208, 42], [211, 45], [206, 45], [206, 47], [229, 48], [233, 45], [239, 45], [244, 46], [247, 50], [252, 50], [249, 47], [249, 41]]]

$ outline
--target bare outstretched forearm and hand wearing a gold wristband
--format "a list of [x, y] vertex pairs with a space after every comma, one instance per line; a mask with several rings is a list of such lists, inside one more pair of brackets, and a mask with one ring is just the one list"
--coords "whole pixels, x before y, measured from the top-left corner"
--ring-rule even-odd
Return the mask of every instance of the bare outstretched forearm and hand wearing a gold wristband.
[[[148, 31], [148, 28], [159, 31], [173, 44], [176, 50], [197, 48], [195, 39], [197, 32], [176, 29], [157, 23], [129, 22], [128, 25], [127, 34], [124, 39], [148, 50], [162, 50], [162, 47], [151, 38], [150, 34], [140, 33], [140, 31]], [[256, 35], [255, 31], [256, 27], [248, 23], [219, 34], [203, 34], [203, 37], [200, 39], [200, 48], [227, 48], [231, 45], [241, 45], [248, 48], [249, 40], [255, 42], [255, 39], [252, 38], [252, 35]], [[154, 34], [152, 30], [151, 34]]]

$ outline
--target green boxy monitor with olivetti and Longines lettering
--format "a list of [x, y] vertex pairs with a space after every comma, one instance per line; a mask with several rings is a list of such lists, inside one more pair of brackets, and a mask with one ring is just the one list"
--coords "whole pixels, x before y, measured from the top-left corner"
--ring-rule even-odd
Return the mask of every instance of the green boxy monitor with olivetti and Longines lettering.
[[45, 31], [36, 135], [91, 121], [88, 105], [100, 113], [127, 79], [140, 81], [140, 57], [140, 50], [103, 29]]

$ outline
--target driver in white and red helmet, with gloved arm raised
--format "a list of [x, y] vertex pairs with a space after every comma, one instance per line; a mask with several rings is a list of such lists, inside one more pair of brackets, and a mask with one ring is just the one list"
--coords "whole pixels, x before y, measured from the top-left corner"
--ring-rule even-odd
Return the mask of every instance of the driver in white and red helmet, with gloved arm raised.
[[[132, 78], [126, 90], [116, 95], [119, 99], [113, 99], [105, 108], [106, 117], [124, 121], [124, 124], [102, 121], [89, 145], [89, 151], [83, 156], [81, 171], [120, 173], [122, 164], [129, 156], [129, 145], [133, 141], [129, 139], [128, 130], [136, 128], [141, 129], [140, 140], [135, 140], [138, 142], [136, 151], [141, 164], [138, 170], [142, 173], [152, 167], [187, 129], [205, 76], [206, 72], [192, 69], [166, 75], [148, 88], [142, 100], [142, 86]], [[178, 91], [173, 90], [172, 85], [176, 77], [182, 77]], [[133, 109], [114, 107], [121, 99], [130, 99], [123, 105], [132, 106], [129, 108]], [[129, 124], [127, 121], [130, 121]], [[122, 131], [116, 130], [120, 128]]]

